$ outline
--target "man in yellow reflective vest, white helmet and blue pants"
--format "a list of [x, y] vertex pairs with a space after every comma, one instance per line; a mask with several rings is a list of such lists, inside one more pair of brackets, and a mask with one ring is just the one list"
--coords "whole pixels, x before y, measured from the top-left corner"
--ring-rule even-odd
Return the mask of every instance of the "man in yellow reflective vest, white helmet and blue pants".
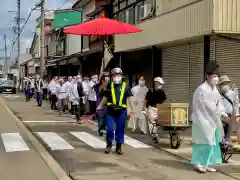
[[[124, 144], [125, 123], [127, 119], [127, 98], [133, 97], [133, 94], [129, 85], [123, 82], [123, 73], [120, 68], [114, 68], [111, 71], [111, 77], [112, 80], [107, 85], [103, 93], [103, 99], [97, 109], [101, 109], [104, 104], [107, 105], [107, 147], [105, 154], [111, 152], [112, 142], [115, 137], [116, 153], [123, 155], [122, 144]], [[132, 99], [130, 99], [130, 102], [131, 100]]]

